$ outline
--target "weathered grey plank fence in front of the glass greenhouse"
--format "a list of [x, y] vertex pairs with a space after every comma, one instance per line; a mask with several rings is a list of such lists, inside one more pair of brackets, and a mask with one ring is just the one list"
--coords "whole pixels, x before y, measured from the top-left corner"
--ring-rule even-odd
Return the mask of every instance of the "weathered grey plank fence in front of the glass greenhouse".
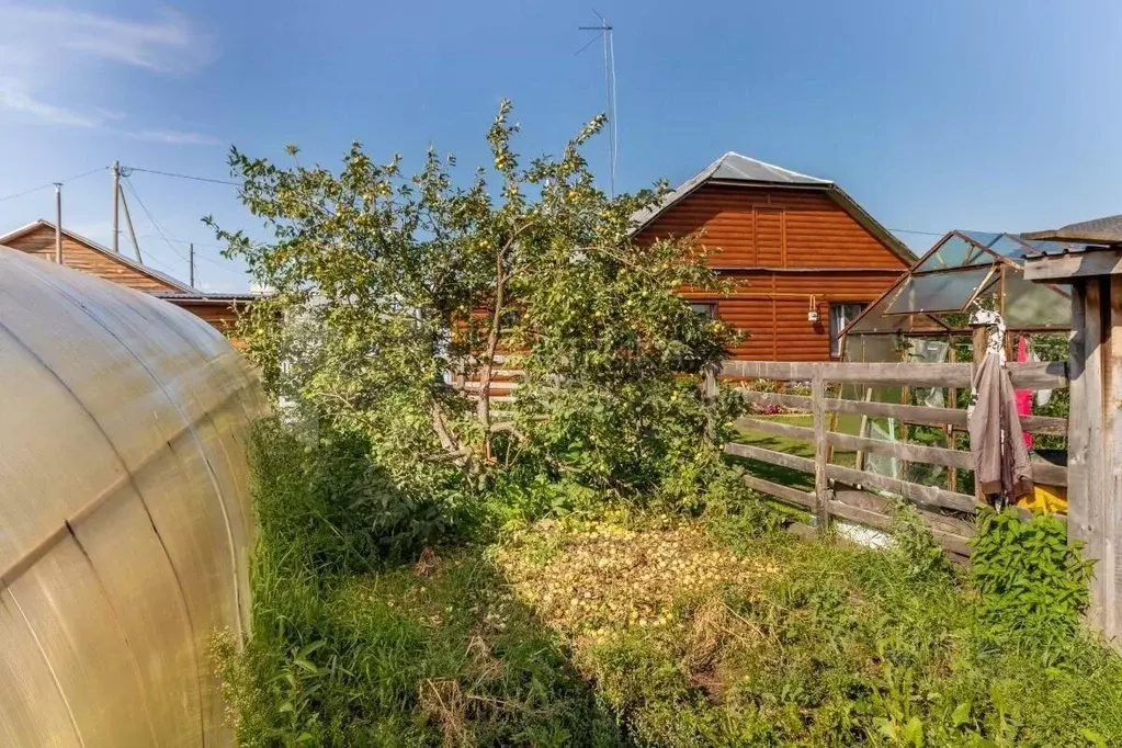
[[[1009, 363], [1014, 387], [1019, 389], [1061, 389], [1068, 386], [1067, 364]], [[935, 537], [948, 551], [968, 555], [966, 541], [973, 534], [972, 516], [978, 507], [974, 495], [948, 488], [928, 486], [883, 475], [856, 467], [835, 464], [830, 461], [831, 447], [857, 454], [886, 455], [905, 463], [941, 465], [949, 470], [973, 470], [974, 461], [968, 451], [929, 446], [903, 441], [871, 438], [865, 435], [839, 433], [830, 428], [828, 414], [853, 414], [864, 418], [896, 418], [904, 424], [942, 426], [946, 432], [966, 428], [966, 410], [962, 408], [928, 407], [895, 403], [876, 403], [868, 399], [840, 399], [829, 397], [830, 385], [864, 385], [866, 387], [929, 387], [968, 389], [973, 373], [971, 363], [781, 363], [756, 361], [726, 361], [720, 369], [723, 379], [809, 382], [809, 395], [755, 391], [742, 389], [742, 396], [761, 406], [781, 406], [809, 413], [811, 426], [799, 426], [758, 417], [742, 418], [737, 425], [780, 437], [804, 440], [813, 445], [813, 459], [779, 452], [758, 445], [729, 443], [728, 454], [747, 458], [771, 465], [813, 475], [813, 489], [803, 490], [784, 486], [757, 475], [745, 482], [753, 489], [810, 510], [819, 528], [839, 517], [876, 529], [886, 528], [889, 499], [885, 495], [903, 498], [916, 505], [920, 517], [929, 525]], [[710, 382], [708, 385], [712, 387]], [[1067, 419], [1045, 416], [1023, 416], [1026, 432], [1039, 434], [1067, 434]], [[951, 444], [954, 442], [951, 441]], [[1050, 463], [1032, 464], [1033, 479], [1049, 486], [1067, 486], [1067, 468]], [[809, 482], [809, 481], [808, 481]]]

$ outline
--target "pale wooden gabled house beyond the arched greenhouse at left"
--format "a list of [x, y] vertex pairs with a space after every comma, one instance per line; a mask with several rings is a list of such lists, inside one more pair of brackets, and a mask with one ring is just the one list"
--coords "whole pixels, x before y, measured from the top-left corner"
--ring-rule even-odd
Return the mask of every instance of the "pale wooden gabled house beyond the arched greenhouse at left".
[[[254, 301], [252, 294], [211, 294], [63, 229], [63, 265], [180, 306], [220, 332], [234, 322], [238, 307]], [[55, 224], [38, 220], [0, 237], [0, 246], [55, 261]]]

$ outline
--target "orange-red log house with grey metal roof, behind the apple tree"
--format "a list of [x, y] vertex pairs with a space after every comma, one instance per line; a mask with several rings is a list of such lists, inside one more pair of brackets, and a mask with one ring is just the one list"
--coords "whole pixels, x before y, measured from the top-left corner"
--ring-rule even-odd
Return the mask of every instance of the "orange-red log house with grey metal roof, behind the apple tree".
[[700, 236], [709, 264], [741, 281], [687, 294], [699, 313], [748, 333], [756, 361], [827, 361], [840, 332], [916, 260], [837, 184], [727, 153], [635, 216], [638, 241]]

